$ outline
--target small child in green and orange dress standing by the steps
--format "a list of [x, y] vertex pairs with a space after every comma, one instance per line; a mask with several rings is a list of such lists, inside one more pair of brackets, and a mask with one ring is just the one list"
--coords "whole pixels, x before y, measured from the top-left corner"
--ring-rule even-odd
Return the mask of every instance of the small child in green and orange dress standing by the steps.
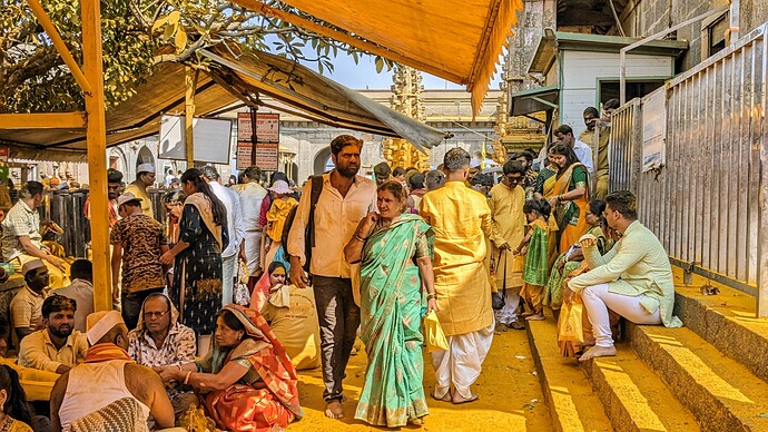
[[549, 225], [551, 207], [547, 199], [529, 199], [523, 206], [523, 213], [528, 218], [529, 230], [516, 249], [520, 255], [523, 248], [525, 253], [525, 266], [523, 267], [523, 288], [520, 297], [528, 305], [529, 312], [523, 316], [528, 321], [544, 320], [543, 300], [547, 279], [549, 277], [548, 244], [552, 233]]

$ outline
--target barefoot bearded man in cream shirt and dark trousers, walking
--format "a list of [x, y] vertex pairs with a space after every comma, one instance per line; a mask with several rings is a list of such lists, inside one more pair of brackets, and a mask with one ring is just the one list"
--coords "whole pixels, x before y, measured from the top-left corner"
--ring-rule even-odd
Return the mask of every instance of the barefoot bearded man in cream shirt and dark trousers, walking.
[[[357, 224], [370, 212], [377, 212], [376, 184], [357, 175], [363, 141], [341, 135], [331, 141], [334, 169], [323, 175], [323, 190], [315, 206], [315, 240], [309, 258], [317, 317], [321, 326], [325, 415], [342, 419], [344, 370], [360, 326], [360, 307], [352, 296], [349, 265], [344, 246]], [[307, 262], [304, 229], [309, 220], [312, 183], [307, 181], [288, 235], [291, 282], [299, 288], [309, 281], [302, 266]]]

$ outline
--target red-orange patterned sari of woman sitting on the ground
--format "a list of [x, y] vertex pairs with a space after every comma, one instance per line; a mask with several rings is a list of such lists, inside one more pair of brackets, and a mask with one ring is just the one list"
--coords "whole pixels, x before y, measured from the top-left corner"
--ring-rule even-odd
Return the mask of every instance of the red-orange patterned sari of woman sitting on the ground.
[[229, 351], [214, 344], [208, 356], [198, 362], [198, 370], [218, 373], [228, 362], [249, 369], [237, 383], [205, 396], [207, 414], [229, 431], [286, 428], [303, 415], [296, 369], [258, 312], [234, 304], [224, 308], [237, 316], [250, 337]]

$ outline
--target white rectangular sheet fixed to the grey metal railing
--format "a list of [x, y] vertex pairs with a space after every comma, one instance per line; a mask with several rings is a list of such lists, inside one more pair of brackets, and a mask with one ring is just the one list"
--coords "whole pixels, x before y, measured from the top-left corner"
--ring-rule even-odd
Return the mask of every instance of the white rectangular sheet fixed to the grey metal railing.
[[662, 87], [642, 99], [642, 171], [659, 168], [667, 159], [667, 90]]

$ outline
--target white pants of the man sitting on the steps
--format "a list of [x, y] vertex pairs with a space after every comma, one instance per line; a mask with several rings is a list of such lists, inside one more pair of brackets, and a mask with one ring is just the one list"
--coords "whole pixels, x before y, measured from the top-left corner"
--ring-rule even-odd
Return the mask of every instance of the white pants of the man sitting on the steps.
[[640, 304], [641, 295], [630, 296], [608, 292], [608, 284], [588, 286], [581, 292], [581, 301], [587, 308], [587, 316], [594, 332], [595, 345], [613, 346], [611, 337], [611, 322], [608, 310], [616, 312], [634, 324], [661, 324], [659, 310], [648, 313]]

